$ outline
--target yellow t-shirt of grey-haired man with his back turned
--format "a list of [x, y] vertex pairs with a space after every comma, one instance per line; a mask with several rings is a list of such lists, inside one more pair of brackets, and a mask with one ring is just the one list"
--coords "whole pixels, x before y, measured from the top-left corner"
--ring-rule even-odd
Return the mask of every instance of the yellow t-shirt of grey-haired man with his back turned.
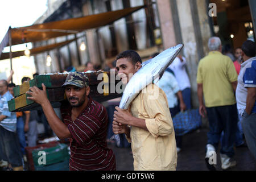
[[197, 84], [203, 84], [205, 106], [236, 104], [231, 82], [237, 81], [232, 60], [219, 51], [212, 51], [199, 62]]

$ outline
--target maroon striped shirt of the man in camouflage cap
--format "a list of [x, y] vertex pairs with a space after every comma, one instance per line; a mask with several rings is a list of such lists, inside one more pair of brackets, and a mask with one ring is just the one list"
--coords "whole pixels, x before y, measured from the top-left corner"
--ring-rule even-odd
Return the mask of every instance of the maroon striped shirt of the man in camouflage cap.
[[115, 170], [114, 152], [106, 143], [108, 114], [105, 107], [89, 97], [88, 105], [73, 122], [71, 110], [69, 104], [61, 105], [61, 116], [71, 133], [69, 169]]

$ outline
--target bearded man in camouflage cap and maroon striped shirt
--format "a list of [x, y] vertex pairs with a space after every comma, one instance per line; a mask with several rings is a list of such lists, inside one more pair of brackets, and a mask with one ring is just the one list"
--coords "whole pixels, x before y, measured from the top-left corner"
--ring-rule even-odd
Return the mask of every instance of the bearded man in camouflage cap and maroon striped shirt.
[[114, 152], [107, 148], [106, 144], [108, 114], [104, 106], [88, 96], [88, 78], [84, 73], [72, 72], [62, 86], [65, 87], [65, 95], [69, 102], [61, 105], [63, 121], [53, 110], [44, 84], [43, 90], [33, 86], [27, 94], [31, 95], [28, 99], [42, 106], [47, 121], [57, 137], [70, 139], [69, 169], [115, 170]]

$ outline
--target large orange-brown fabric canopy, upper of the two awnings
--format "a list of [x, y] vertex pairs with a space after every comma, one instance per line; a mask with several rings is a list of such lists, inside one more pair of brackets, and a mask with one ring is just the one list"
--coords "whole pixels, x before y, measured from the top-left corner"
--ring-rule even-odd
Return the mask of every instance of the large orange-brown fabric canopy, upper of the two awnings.
[[[129, 7], [123, 10], [108, 11], [106, 13], [83, 16], [81, 18], [65, 19], [55, 22], [47, 22], [42, 24], [34, 24], [27, 27], [11, 28], [11, 46], [16, 44], [23, 44], [28, 42], [38, 42], [65, 36], [69, 34], [76, 34], [90, 28], [97, 28], [113, 23], [115, 20], [130, 15], [144, 6]], [[8, 32], [7, 32], [8, 34]], [[9, 46], [9, 43], [5, 46]], [[3, 41], [1, 42], [1, 45]], [[0, 45], [0, 47], [1, 47]]]

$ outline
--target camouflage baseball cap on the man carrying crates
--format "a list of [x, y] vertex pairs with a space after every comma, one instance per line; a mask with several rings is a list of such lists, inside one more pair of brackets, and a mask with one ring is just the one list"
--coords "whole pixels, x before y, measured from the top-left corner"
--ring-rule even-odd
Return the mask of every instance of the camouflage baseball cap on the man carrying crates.
[[72, 72], [68, 74], [64, 84], [61, 86], [65, 85], [75, 85], [83, 88], [85, 86], [89, 86], [89, 79], [84, 73]]

